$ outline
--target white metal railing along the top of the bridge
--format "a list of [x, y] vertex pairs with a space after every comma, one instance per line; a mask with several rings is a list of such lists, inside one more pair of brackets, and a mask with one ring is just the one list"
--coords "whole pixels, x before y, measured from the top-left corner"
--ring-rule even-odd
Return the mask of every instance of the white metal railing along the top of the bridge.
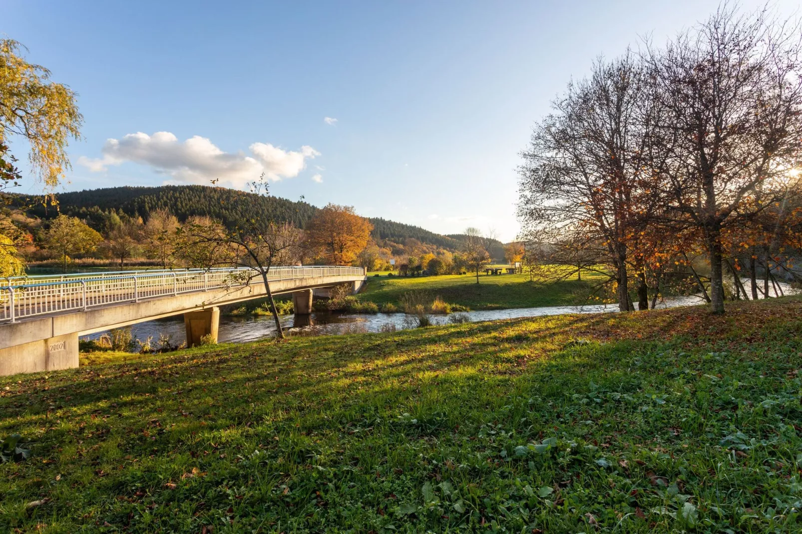
[[[358, 276], [362, 267], [272, 267], [268, 281]], [[256, 269], [179, 269], [10, 277], [0, 282], [0, 322], [118, 302], [261, 284]], [[22, 282], [22, 283], [19, 283]]]

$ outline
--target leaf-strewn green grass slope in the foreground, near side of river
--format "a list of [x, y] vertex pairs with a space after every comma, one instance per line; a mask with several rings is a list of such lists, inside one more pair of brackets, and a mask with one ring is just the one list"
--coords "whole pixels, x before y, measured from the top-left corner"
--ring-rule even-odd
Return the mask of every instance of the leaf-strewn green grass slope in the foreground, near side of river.
[[799, 532], [800, 328], [788, 298], [0, 378], [34, 439], [0, 532]]

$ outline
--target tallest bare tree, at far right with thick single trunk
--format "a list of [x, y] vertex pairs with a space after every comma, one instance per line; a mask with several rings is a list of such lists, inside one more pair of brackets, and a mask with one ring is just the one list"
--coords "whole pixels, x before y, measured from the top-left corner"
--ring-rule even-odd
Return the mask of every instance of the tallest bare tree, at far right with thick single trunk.
[[663, 49], [648, 46], [650, 148], [664, 216], [707, 249], [711, 309], [724, 311], [726, 234], [781, 200], [772, 180], [799, 162], [800, 27], [724, 6]]

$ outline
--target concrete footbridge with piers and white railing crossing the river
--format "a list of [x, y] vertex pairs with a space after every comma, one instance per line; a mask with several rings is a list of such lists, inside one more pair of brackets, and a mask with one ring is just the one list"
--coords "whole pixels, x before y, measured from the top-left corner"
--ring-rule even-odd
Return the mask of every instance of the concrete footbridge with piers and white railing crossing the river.
[[[361, 267], [273, 267], [274, 295], [310, 314], [314, 288], [367, 281]], [[184, 314], [187, 346], [217, 341], [218, 306], [265, 296], [254, 269], [79, 273], [0, 279], [0, 376], [78, 366], [78, 337]]]

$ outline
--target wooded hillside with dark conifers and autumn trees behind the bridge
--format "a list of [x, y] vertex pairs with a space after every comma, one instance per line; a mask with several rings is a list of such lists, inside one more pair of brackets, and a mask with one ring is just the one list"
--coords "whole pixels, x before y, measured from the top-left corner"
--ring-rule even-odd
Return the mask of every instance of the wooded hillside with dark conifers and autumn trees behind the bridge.
[[[201, 185], [100, 188], [65, 192], [42, 201], [14, 195], [2, 214], [17, 244], [2, 276], [26, 268], [63, 272], [91, 267], [206, 267], [223, 257], [201, 257], [198, 229], [237, 229], [270, 221], [287, 241], [274, 265], [356, 265], [403, 275], [462, 273], [466, 237], [444, 236], [383, 218], [363, 218], [349, 207]], [[288, 241], [289, 240], [289, 241]], [[333, 241], [340, 241], [334, 243]], [[504, 245], [482, 237], [486, 262], [504, 261]], [[514, 258], [513, 258], [514, 259]]]

